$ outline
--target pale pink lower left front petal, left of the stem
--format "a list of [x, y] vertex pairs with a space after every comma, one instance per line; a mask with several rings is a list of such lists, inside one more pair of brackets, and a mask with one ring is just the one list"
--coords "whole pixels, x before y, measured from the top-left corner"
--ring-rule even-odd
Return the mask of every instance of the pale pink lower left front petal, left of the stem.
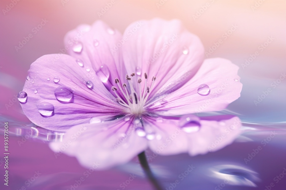
[[75, 156], [85, 167], [98, 163], [97, 169], [107, 169], [124, 164], [147, 148], [147, 140], [134, 131], [133, 120], [134, 117], [128, 121], [123, 117], [74, 126], [66, 132], [63, 142], [53, 142], [50, 148]]

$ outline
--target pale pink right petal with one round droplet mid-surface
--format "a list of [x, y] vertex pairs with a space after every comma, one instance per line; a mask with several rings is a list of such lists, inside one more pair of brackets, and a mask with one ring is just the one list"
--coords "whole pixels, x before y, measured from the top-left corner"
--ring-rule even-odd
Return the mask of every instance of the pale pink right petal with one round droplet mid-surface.
[[[242, 84], [237, 75], [239, 67], [223, 58], [206, 59], [196, 75], [175, 92], [151, 100], [149, 110], [159, 115], [184, 115], [220, 111], [240, 97]], [[198, 94], [202, 84], [209, 86], [208, 95]]]

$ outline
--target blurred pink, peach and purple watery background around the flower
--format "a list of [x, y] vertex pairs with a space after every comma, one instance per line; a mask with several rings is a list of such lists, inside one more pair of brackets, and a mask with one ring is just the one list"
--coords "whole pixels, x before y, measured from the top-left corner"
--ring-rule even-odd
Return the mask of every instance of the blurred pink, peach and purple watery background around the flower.
[[[12, 128], [15, 135], [10, 137], [9, 145], [10, 185], [3, 186], [3, 189], [72, 190], [71, 185], [86, 171], [75, 158], [66, 155], [55, 158], [47, 146], [46, 131], [42, 136], [38, 135], [42, 138], [30, 135], [23, 139], [25, 133], [33, 130], [27, 127], [29, 120], [23, 115], [18, 101], [14, 100], [22, 91], [31, 63], [42, 55], [59, 53], [64, 48], [66, 32], [79, 24], [92, 24], [101, 19], [123, 33], [130, 23], [154, 17], [180, 19], [201, 39], [205, 58], [231, 60], [240, 67], [240, 82], [243, 83], [241, 97], [224, 111], [241, 118], [243, 134], [235, 143], [218, 152], [193, 158], [186, 154], [158, 156], [151, 167], [164, 187], [170, 190], [285, 188], [286, 177], [283, 179], [282, 172], [286, 167], [286, 1], [2, 0], [0, 7], [1, 122], [8, 121], [11, 127], [15, 126]], [[21, 44], [23, 40], [25, 44]], [[215, 47], [219, 40], [222, 43]], [[21, 131], [17, 127], [22, 127]], [[278, 132], [277, 137], [246, 164], [244, 158], [273, 130]], [[53, 134], [52, 138], [57, 140], [58, 136]], [[3, 133], [1, 142], [2, 139]], [[0, 157], [3, 177], [5, 162], [1, 158], [3, 156]], [[196, 166], [194, 171], [173, 187], [172, 183], [188, 169], [189, 164]], [[128, 186], [122, 185], [131, 173], [137, 177]], [[275, 181], [275, 176], [281, 173], [283, 177], [280, 175], [278, 182]], [[36, 174], [39, 177], [32, 183], [27, 182]], [[229, 177], [230, 182], [225, 183], [225, 177]], [[108, 171], [94, 171], [74, 188], [152, 189], [136, 158]]]

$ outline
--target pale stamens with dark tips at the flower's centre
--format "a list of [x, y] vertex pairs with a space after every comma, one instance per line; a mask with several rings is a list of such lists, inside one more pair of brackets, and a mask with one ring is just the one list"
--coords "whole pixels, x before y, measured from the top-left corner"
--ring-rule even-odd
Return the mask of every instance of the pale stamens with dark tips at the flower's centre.
[[[135, 73], [132, 73], [130, 76], [134, 77], [134, 75], [135, 75]], [[143, 86], [143, 89], [144, 89], [143, 93], [142, 93], [142, 88], [141, 88], [142, 79], [139, 78], [137, 80], [139, 92], [136, 92], [136, 90], [133, 88], [132, 80], [127, 74], [126, 74], [125, 79], [128, 81], [128, 84], [130, 86], [130, 93], [128, 92], [127, 84], [123, 83], [121, 86], [118, 78], [115, 79], [115, 83], [117, 84], [117, 86], [118, 86], [120, 92], [122, 93], [122, 95], [124, 96], [124, 98], [122, 97], [123, 98], [122, 99], [118, 95], [118, 93], [116, 92], [117, 88], [115, 86], [112, 86], [112, 88], [111, 88], [118, 98], [118, 103], [129, 108], [130, 112], [132, 114], [139, 115], [139, 114], [144, 113], [144, 104], [146, 103], [148, 96], [150, 95], [150, 93], [153, 89], [154, 81], [156, 79], [156, 77], [152, 77], [151, 87], [148, 87], [147, 86], [147, 78], [148, 78], [147, 73], [144, 73], [144, 78], [145, 78], [145, 83], [143, 84], [144, 85]]]

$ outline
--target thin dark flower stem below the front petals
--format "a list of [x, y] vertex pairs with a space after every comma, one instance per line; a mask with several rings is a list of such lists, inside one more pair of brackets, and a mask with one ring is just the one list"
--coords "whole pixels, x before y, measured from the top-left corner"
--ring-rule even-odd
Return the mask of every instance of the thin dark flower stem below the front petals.
[[163, 190], [163, 188], [160, 186], [160, 184], [158, 183], [157, 179], [155, 178], [154, 174], [152, 173], [152, 171], [150, 169], [150, 166], [149, 166], [149, 164], [147, 162], [147, 158], [146, 158], [146, 155], [145, 155], [145, 151], [143, 151], [140, 154], [138, 154], [138, 159], [139, 159], [140, 165], [143, 168], [146, 176], [148, 177], [150, 182], [153, 184], [155, 189], [156, 190]]

